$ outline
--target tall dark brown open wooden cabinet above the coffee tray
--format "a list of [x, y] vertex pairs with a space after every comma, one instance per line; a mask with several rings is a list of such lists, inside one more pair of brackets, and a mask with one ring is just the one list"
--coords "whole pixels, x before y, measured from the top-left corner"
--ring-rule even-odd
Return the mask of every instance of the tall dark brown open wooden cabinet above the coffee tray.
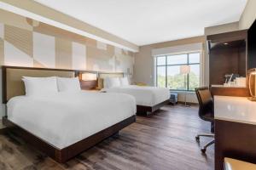
[[247, 74], [247, 30], [207, 36], [209, 81], [224, 84], [226, 74]]

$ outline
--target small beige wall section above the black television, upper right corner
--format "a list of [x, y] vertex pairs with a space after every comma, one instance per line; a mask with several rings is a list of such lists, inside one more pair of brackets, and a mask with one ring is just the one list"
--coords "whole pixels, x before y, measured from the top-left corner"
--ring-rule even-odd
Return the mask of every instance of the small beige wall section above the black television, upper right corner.
[[239, 29], [244, 30], [248, 29], [252, 26], [253, 21], [256, 19], [256, 1], [255, 0], [247, 0], [246, 8], [241, 14], [241, 18], [239, 20]]

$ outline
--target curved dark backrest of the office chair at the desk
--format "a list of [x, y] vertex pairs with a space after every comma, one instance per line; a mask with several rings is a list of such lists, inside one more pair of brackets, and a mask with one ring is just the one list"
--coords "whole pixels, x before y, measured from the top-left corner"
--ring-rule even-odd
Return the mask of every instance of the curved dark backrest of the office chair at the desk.
[[198, 99], [199, 103], [199, 111], [198, 114], [201, 117], [201, 119], [206, 121], [209, 120], [206, 115], [212, 114], [213, 116], [213, 99], [212, 94], [209, 90], [209, 88], [195, 88], [195, 94]]

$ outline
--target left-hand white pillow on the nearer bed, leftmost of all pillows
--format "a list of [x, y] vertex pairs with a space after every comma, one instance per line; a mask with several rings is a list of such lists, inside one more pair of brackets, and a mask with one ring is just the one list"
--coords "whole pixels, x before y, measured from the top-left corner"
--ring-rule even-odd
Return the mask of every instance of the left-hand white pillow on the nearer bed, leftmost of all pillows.
[[26, 96], [42, 97], [58, 93], [56, 77], [23, 77]]

